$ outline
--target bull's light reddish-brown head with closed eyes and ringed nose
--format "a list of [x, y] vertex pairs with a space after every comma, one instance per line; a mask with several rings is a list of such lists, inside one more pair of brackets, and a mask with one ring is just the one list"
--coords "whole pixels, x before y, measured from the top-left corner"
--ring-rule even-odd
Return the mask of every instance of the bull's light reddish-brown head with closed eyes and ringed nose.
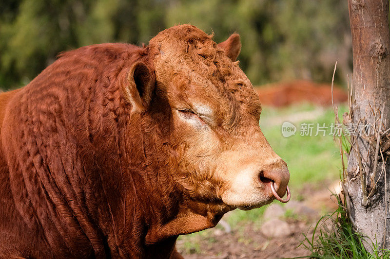
[[258, 95], [235, 61], [240, 49], [237, 34], [216, 44], [194, 26], [172, 27], [150, 41], [150, 64], [133, 66], [128, 90], [134, 109], [165, 136], [170, 173], [185, 195], [229, 209], [269, 204], [289, 182], [260, 130]]

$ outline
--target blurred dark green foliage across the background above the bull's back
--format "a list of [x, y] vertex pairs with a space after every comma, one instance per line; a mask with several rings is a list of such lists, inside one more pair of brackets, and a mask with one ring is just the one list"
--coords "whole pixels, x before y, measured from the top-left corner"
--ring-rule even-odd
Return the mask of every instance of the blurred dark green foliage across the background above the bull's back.
[[330, 82], [351, 73], [347, 1], [1, 0], [0, 88], [27, 84], [59, 52], [103, 42], [140, 45], [191, 23], [215, 41], [241, 35], [240, 66], [254, 85]]

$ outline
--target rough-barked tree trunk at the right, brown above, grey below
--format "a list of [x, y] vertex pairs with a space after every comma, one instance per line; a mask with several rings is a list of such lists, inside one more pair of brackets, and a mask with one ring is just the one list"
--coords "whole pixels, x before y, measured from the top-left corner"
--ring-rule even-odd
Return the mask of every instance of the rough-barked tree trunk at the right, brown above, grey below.
[[357, 129], [351, 134], [344, 181], [347, 207], [356, 231], [376, 239], [378, 248], [389, 249], [389, 0], [348, 0], [348, 5], [353, 74], [350, 115], [345, 115], [344, 124], [351, 122]]

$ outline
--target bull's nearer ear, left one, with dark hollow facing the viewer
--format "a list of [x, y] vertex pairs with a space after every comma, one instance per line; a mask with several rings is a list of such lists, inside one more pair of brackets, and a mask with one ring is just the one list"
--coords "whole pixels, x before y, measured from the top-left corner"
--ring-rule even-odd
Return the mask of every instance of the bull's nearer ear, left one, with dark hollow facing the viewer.
[[125, 99], [134, 109], [144, 111], [152, 100], [155, 84], [155, 73], [143, 62], [136, 62], [131, 67], [127, 82], [123, 86]]

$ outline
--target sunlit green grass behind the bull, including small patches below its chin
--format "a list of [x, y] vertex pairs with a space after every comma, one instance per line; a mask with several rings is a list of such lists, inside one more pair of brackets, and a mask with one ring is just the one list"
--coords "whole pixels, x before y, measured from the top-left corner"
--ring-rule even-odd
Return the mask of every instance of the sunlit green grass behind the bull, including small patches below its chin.
[[[347, 111], [346, 105], [339, 106], [339, 116]], [[342, 120], [342, 118], [341, 118]], [[295, 135], [283, 137], [282, 124], [289, 121], [296, 126]], [[313, 123], [312, 136], [301, 136], [301, 124]], [[316, 135], [317, 123], [327, 126], [325, 136], [322, 132]], [[334, 113], [332, 107], [317, 107], [311, 104], [300, 104], [286, 108], [273, 108], [263, 106], [260, 117], [260, 127], [273, 150], [287, 162], [290, 171], [290, 189], [292, 200], [303, 199], [305, 188], [326, 189], [329, 184], [339, 179], [341, 158], [338, 144], [333, 141], [330, 125], [334, 125]], [[306, 133], [306, 132], [305, 132]], [[250, 211], [234, 210], [224, 217], [235, 231], [240, 231], [242, 226], [249, 222], [260, 226], [262, 215], [266, 207]], [[218, 225], [217, 225], [218, 227]], [[196, 251], [196, 242], [210, 239], [207, 230], [191, 235], [180, 236], [184, 244]]]

